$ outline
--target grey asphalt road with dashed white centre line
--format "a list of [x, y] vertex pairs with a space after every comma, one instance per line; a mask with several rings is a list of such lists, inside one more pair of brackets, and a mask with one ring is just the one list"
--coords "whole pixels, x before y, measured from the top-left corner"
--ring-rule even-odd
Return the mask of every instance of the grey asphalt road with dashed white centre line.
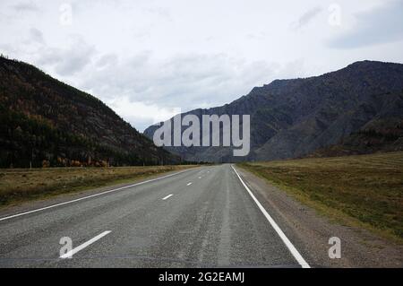
[[0, 218], [0, 267], [307, 266], [241, 179], [201, 167]]

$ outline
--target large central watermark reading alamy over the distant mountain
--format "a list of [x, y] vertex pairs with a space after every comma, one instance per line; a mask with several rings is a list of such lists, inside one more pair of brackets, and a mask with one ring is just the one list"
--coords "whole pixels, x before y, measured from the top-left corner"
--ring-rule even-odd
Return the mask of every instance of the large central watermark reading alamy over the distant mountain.
[[179, 114], [162, 123], [153, 140], [157, 146], [231, 146], [234, 147], [234, 156], [246, 156], [251, 149], [250, 129], [249, 115], [243, 115], [242, 120], [239, 115], [202, 115], [200, 122], [196, 115], [188, 114], [182, 118]]

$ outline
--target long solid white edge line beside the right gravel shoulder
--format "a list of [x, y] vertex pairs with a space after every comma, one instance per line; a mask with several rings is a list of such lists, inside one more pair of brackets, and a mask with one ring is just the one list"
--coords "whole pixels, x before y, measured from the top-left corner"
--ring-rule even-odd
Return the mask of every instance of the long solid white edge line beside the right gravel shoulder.
[[277, 234], [279, 235], [279, 237], [281, 238], [281, 240], [283, 240], [284, 244], [286, 245], [286, 247], [288, 248], [288, 250], [291, 252], [291, 254], [294, 256], [294, 258], [296, 258], [296, 261], [298, 262], [298, 264], [300, 264], [303, 268], [311, 268], [311, 266], [309, 266], [309, 264], [304, 260], [303, 256], [301, 256], [301, 254], [298, 252], [298, 250], [296, 250], [296, 247], [294, 247], [294, 245], [291, 243], [291, 241], [289, 241], [289, 239], [287, 238], [287, 236], [284, 234], [283, 230], [281, 230], [279, 228], [279, 225], [276, 223], [276, 221], [274, 221], [270, 214], [268, 212], [266, 212], [266, 210], [264, 209], [264, 207], [262, 206], [262, 204], [257, 200], [257, 198], [253, 195], [253, 193], [251, 192], [251, 190], [249, 189], [248, 186], [246, 186], [246, 184], [244, 183], [244, 180], [241, 178], [241, 176], [239, 176], [238, 172], [236, 171], [236, 169], [234, 168], [234, 166], [232, 166], [232, 169], [234, 169], [234, 171], [236, 172], [236, 176], [239, 178], [239, 180], [241, 181], [242, 185], [244, 185], [244, 188], [246, 189], [246, 191], [248, 191], [249, 195], [252, 196], [254, 203], [257, 204], [257, 206], [259, 207], [259, 209], [263, 212], [264, 216], [266, 217], [266, 219], [270, 222], [271, 226], [273, 227], [274, 230], [276, 230]]

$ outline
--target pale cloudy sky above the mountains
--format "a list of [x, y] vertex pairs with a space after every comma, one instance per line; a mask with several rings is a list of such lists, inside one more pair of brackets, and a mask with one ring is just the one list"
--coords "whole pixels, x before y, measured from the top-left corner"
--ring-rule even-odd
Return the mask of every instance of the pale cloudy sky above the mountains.
[[0, 35], [142, 131], [277, 78], [403, 63], [403, 0], [1, 0]]

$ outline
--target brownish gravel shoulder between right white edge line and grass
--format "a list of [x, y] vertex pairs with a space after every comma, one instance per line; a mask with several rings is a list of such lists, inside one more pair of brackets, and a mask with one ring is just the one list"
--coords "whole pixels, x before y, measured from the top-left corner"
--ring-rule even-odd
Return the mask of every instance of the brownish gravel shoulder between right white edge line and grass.
[[[313, 267], [403, 267], [403, 246], [368, 230], [342, 225], [296, 201], [249, 171], [236, 167], [253, 194]], [[330, 259], [329, 238], [341, 240], [341, 258]]]

